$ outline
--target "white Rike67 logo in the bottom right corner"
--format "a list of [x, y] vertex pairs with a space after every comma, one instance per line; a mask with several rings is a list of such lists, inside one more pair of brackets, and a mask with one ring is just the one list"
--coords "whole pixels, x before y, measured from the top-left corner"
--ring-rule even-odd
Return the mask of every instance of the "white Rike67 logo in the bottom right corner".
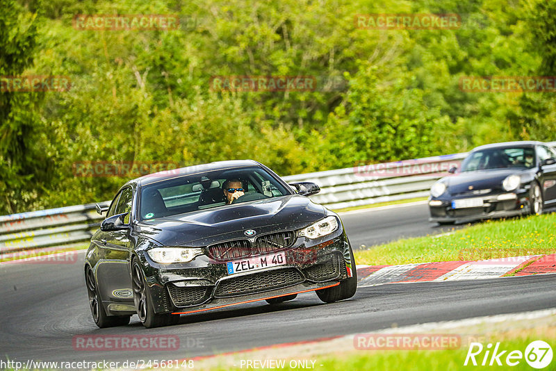
[[543, 340], [532, 341], [525, 348], [525, 352], [521, 352], [521, 350], [502, 349], [500, 343], [496, 343], [494, 347], [491, 343], [487, 344], [486, 347], [484, 347], [482, 343], [471, 343], [467, 351], [467, 356], [465, 357], [464, 366], [507, 365], [513, 367], [525, 359], [525, 362], [532, 368], [540, 370], [550, 365], [552, 358], [552, 348]]

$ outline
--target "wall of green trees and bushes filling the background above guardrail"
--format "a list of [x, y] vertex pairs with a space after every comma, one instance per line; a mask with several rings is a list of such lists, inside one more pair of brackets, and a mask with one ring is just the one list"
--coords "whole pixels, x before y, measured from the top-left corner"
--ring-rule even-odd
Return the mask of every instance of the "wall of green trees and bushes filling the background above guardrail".
[[[461, 76], [556, 74], [555, 1], [0, 0], [0, 75], [69, 76], [0, 92], [0, 214], [108, 199], [127, 179], [83, 161], [252, 158], [281, 175], [554, 140], [550, 93], [474, 93]], [[25, 3], [27, 4], [27, 3]], [[366, 30], [354, 15], [457, 13], [455, 30]], [[82, 31], [75, 15], [178, 15], [176, 30]], [[217, 92], [212, 76], [344, 79]]]

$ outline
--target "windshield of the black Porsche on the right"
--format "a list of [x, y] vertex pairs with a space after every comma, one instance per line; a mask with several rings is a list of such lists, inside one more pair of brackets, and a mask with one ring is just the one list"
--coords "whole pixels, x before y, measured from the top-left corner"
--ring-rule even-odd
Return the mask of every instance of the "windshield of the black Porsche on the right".
[[534, 148], [495, 148], [475, 151], [461, 164], [461, 172], [475, 170], [524, 168], [535, 164]]

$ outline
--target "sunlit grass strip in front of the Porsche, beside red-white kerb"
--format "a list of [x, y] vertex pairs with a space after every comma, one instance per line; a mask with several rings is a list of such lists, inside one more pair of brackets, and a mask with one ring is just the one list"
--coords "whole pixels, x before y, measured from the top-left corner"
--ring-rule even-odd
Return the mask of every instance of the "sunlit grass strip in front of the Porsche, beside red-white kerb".
[[487, 220], [436, 236], [407, 238], [355, 252], [357, 264], [395, 265], [553, 254], [556, 213]]

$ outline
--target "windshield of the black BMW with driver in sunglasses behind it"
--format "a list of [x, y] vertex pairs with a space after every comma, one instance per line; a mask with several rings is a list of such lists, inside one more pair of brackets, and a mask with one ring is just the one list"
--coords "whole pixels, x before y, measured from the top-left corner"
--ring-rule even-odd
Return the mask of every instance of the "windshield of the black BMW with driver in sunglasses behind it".
[[181, 176], [141, 189], [140, 220], [291, 194], [261, 167]]

